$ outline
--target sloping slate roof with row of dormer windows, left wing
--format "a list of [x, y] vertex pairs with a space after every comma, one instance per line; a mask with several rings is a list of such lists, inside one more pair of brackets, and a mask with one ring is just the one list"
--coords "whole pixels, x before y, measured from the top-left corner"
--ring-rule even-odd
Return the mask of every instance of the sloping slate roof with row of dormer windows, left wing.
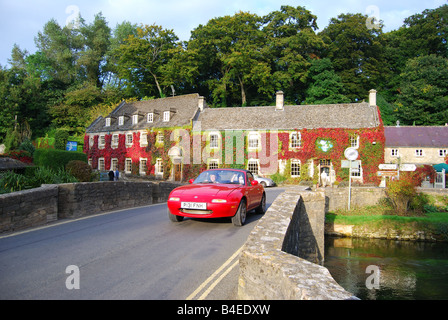
[[[188, 94], [161, 99], [123, 102], [107, 117], [111, 117], [111, 125], [106, 127], [106, 119], [98, 117], [86, 129], [87, 133], [143, 130], [148, 128], [182, 127], [190, 125], [198, 112], [199, 94]], [[163, 112], [170, 111], [170, 121], [163, 121]], [[154, 113], [154, 121], [147, 122], [147, 114]], [[138, 123], [132, 124], [132, 115], [138, 114]], [[124, 117], [124, 124], [118, 125], [118, 117]]]

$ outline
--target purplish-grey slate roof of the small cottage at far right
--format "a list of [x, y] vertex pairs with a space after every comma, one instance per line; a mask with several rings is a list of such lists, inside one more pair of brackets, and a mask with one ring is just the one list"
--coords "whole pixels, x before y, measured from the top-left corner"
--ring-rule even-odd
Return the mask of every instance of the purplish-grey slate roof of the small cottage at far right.
[[386, 147], [448, 148], [448, 126], [384, 127]]

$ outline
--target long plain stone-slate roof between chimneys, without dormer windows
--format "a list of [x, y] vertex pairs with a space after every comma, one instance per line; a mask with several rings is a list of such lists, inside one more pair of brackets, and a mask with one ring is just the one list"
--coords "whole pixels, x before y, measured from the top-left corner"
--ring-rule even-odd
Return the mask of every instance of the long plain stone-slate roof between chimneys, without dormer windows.
[[198, 117], [201, 130], [293, 130], [373, 128], [378, 111], [366, 102], [327, 105], [207, 108]]

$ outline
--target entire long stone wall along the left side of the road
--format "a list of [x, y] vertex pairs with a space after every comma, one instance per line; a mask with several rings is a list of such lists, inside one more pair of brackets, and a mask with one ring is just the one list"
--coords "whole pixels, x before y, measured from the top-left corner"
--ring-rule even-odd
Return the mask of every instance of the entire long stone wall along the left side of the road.
[[92, 182], [43, 185], [0, 195], [0, 233], [42, 226], [65, 218], [164, 202], [179, 184]]

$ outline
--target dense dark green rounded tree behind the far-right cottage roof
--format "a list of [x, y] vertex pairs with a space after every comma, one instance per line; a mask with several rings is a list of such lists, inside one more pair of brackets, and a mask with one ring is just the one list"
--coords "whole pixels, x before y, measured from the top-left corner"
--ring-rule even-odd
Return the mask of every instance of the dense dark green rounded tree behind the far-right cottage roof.
[[445, 125], [448, 119], [448, 59], [422, 56], [410, 59], [401, 74], [397, 97], [403, 124]]

